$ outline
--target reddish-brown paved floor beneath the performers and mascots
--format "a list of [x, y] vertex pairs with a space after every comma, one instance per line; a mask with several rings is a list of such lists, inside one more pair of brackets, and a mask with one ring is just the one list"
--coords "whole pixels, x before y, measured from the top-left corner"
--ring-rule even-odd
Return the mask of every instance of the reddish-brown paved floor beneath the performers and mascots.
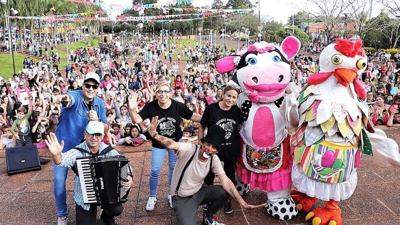
[[[386, 133], [400, 141], [398, 128], [386, 128]], [[140, 148], [119, 148], [122, 155], [129, 158], [134, 169], [133, 187], [129, 200], [125, 203], [122, 215], [117, 217], [119, 224], [176, 224], [173, 211], [169, 208], [167, 196], [167, 162], [161, 171], [157, 189], [157, 204], [153, 211], [145, 210], [148, 197], [148, 178], [150, 169], [150, 145]], [[40, 150], [41, 156], [49, 156], [48, 151]], [[344, 224], [399, 224], [400, 195], [398, 191], [399, 168], [376, 168], [369, 156], [362, 156], [358, 171], [358, 185], [354, 194], [340, 202]], [[0, 151], [0, 224], [56, 224], [56, 207], [52, 191], [52, 164], [42, 166], [40, 171], [32, 171], [12, 176], [6, 175], [4, 151]], [[73, 173], [69, 171], [66, 181], [68, 219], [74, 221]], [[266, 192], [251, 190], [244, 196], [251, 204], [266, 200]], [[320, 206], [319, 201], [316, 206]], [[311, 224], [304, 222], [305, 213], [294, 219], [279, 221], [267, 216], [262, 208], [242, 210], [234, 202], [230, 215], [218, 212], [216, 216], [226, 224]], [[199, 223], [201, 211], [198, 211]], [[74, 222], [71, 222], [74, 224]]]

